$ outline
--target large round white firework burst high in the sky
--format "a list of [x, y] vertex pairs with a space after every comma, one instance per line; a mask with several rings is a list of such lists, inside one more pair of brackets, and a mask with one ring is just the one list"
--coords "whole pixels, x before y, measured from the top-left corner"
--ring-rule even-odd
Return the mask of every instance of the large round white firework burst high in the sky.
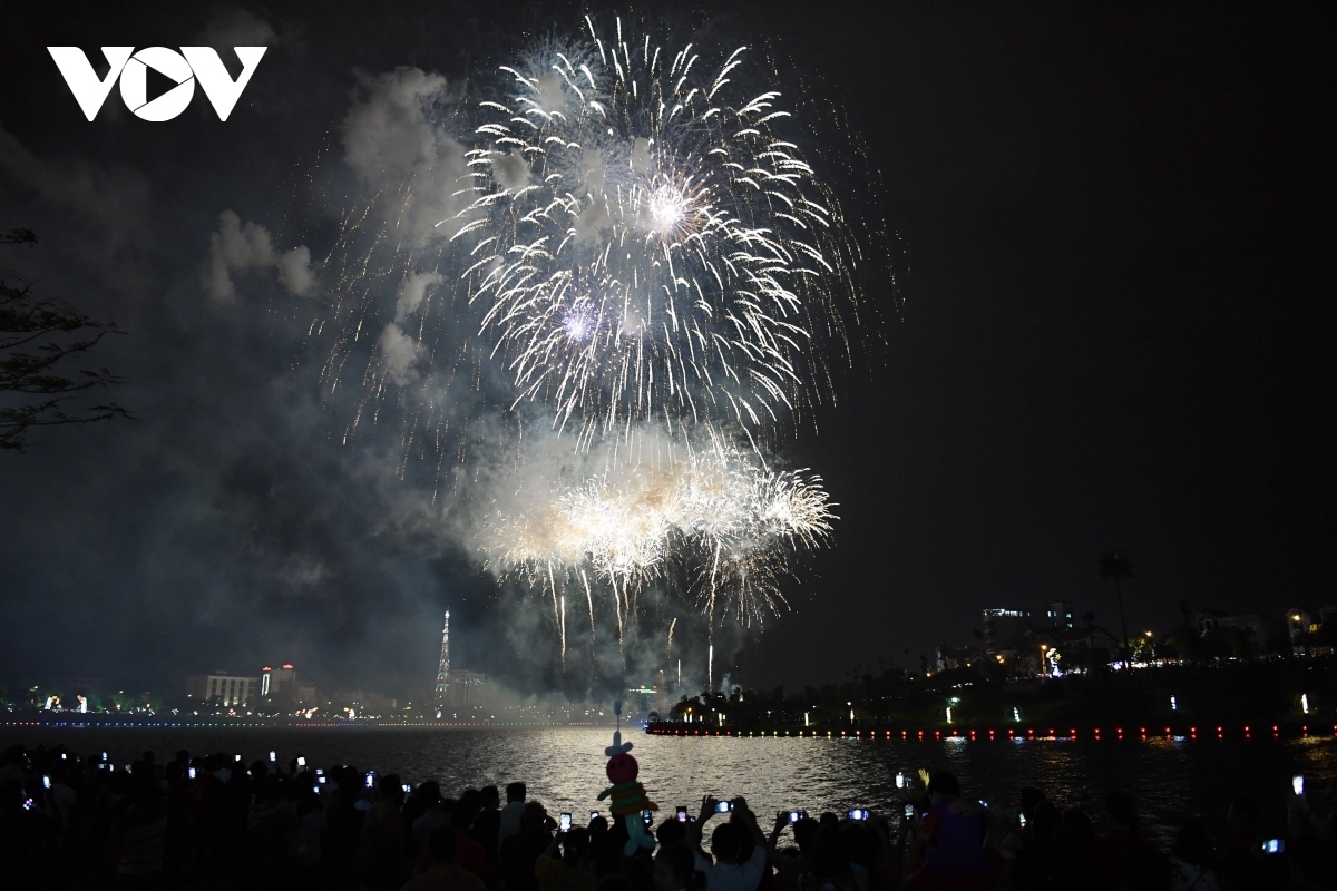
[[[463, 281], [519, 395], [596, 433], [777, 422], [842, 342], [840, 207], [773, 88], [725, 56], [623, 35], [550, 40], [479, 104]], [[453, 240], [452, 239], [452, 240]], [[849, 345], [845, 343], [848, 353]]]

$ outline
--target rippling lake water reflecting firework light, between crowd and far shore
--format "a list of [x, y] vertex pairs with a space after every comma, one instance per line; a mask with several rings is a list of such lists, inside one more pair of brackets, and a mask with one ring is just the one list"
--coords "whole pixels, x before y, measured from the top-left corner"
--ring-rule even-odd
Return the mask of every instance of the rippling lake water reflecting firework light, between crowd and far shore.
[[[406, 781], [436, 779], [447, 793], [471, 785], [524, 780], [550, 811], [588, 812], [608, 785], [603, 749], [612, 731], [540, 729], [78, 729], [4, 728], [11, 743], [66, 743], [80, 753], [106, 748], [124, 763], [144, 749], [160, 755], [241, 752], [247, 761], [279, 749], [286, 761], [350, 763], [393, 769]], [[948, 769], [967, 795], [1016, 804], [1023, 785], [1046, 791], [1060, 807], [1082, 807], [1100, 826], [1102, 800], [1131, 792], [1147, 831], [1169, 844], [1178, 823], [1201, 815], [1218, 832], [1237, 795], [1251, 795], [1265, 819], [1281, 822], [1290, 776], [1304, 772], [1310, 797], [1337, 788], [1337, 743], [1296, 740], [1146, 741], [869, 741], [828, 739], [670, 737], [632, 732], [640, 779], [664, 811], [695, 807], [702, 795], [746, 796], [762, 815], [802, 808], [844, 812], [869, 807], [898, 812], [896, 773]]]

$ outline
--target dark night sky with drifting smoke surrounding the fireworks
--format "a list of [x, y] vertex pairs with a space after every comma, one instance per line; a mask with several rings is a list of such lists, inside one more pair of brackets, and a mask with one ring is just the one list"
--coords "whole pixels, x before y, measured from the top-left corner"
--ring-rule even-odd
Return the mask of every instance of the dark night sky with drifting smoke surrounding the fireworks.
[[[917, 663], [971, 640], [984, 606], [1067, 597], [1114, 628], [1111, 548], [1134, 564], [1134, 629], [1167, 628], [1181, 598], [1274, 616], [1337, 600], [1321, 17], [1088, 7], [758, 4], [713, 25], [825, 83], [904, 251], [900, 307], [868, 283], [886, 349], [783, 448], [841, 521], [793, 614], [738, 655], [742, 683]], [[139, 418], [0, 454], [0, 679], [167, 688], [294, 660], [402, 692], [435, 671], [449, 605], [457, 664], [541, 687], [513, 677], [513, 592], [440, 532], [432, 468], [401, 474], [401, 425], [342, 445], [350, 403], [322, 395], [306, 338], [336, 286], [281, 278], [277, 258], [306, 244], [318, 267], [356, 196], [356, 72], [457, 84], [579, 12], [0, 9], [0, 227], [43, 238], [0, 266], [128, 331], [96, 361]], [[199, 91], [166, 123], [114, 91], [90, 123], [44, 49], [243, 36], [271, 48], [226, 123]], [[225, 211], [275, 256], [233, 267], [230, 299], [202, 274]]]

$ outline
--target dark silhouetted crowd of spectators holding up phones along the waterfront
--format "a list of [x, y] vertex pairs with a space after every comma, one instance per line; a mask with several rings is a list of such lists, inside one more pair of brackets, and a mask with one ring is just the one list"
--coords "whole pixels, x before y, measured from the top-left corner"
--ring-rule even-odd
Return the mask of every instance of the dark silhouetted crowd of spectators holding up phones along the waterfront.
[[[739, 777], [745, 781], [746, 777]], [[63, 748], [0, 756], [0, 887], [298, 891], [1273, 891], [1337, 888], [1334, 820], [1289, 797], [1261, 834], [1241, 797], [1226, 836], [1186, 822], [1163, 851], [1114, 792], [1095, 819], [1044, 792], [965, 796], [932, 776], [894, 814], [781, 812], [745, 799], [647, 814], [656, 847], [626, 855], [622, 819], [552, 815], [523, 783], [443, 795], [340, 764], [241, 756], [132, 764]], [[1104, 830], [1098, 830], [1098, 824]], [[707, 834], [709, 831], [709, 834]]]

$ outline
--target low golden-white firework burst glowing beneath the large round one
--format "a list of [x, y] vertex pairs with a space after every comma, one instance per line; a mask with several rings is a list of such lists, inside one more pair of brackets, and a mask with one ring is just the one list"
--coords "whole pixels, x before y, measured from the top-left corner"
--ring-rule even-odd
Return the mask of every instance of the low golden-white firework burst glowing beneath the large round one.
[[662, 578], [674, 557], [695, 553], [709, 564], [695, 582], [702, 612], [714, 622], [723, 597], [726, 612], [751, 625], [786, 602], [779, 581], [790, 556], [829, 534], [832, 506], [818, 477], [770, 470], [754, 453], [714, 437], [682, 458], [632, 462], [529, 510], [495, 517], [487, 552], [504, 574], [543, 577], [555, 602], [558, 580], [579, 576], [591, 629], [588, 574], [603, 580], [619, 636], [635, 592]]

